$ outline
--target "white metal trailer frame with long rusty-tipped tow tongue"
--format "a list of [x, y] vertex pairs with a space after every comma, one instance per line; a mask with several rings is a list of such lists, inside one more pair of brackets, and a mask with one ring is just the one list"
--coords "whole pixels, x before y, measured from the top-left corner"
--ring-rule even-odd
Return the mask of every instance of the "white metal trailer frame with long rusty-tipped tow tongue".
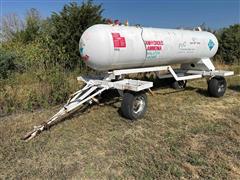
[[[167, 74], [160, 74], [161, 71], [167, 71]], [[173, 69], [171, 66], [154, 66], [144, 68], [131, 68], [109, 71], [103, 74], [103, 78], [98, 76], [97, 78], [78, 77], [77, 80], [83, 81], [86, 85], [79, 91], [72, 94], [58, 113], [51, 117], [47, 122], [34, 126], [33, 130], [28, 132], [22, 139], [30, 140], [40, 132], [48, 129], [56, 122], [66, 118], [70, 114], [79, 110], [83, 105], [91, 104], [93, 101], [98, 102], [96, 98], [103, 91], [108, 89], [117, 89], [120, 95], [123, 95], [124, 91], [140, 92], [144, 90], [150, 90], [153, 87], [153, 82], [142, 81], [135, 79], [125, 79], [124, 76], [128, 74], [136, 73], [156, 73], [160, 79], [173, 77], [176, 81], [186, 81], [199, 78], [213, 78], [215, 76], [225, 77], [234, 74], [233, 71], [210, 71], [210, 70], [184, 70]]]

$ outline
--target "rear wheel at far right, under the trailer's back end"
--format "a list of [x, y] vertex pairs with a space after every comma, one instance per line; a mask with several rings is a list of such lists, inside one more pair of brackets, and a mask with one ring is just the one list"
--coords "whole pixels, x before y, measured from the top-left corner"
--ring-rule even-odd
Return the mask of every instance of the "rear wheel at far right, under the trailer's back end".
[[208, 81], [208, 93], [212, 97], [222, 97], [227, 89], [224, 77], [213, 77]]

